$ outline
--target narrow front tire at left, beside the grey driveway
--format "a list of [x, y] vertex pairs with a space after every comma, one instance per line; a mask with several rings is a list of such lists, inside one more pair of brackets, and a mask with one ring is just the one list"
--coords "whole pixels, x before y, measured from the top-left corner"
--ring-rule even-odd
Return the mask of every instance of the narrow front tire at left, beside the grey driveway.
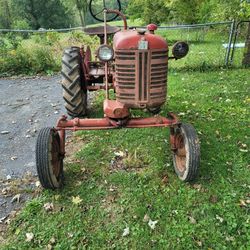
[[40, 130], [36, 143], [36, 167], [41, 185], [45, 189], [63, 186], [63, 155], [60, 154], [60, 137], [53, 128]]

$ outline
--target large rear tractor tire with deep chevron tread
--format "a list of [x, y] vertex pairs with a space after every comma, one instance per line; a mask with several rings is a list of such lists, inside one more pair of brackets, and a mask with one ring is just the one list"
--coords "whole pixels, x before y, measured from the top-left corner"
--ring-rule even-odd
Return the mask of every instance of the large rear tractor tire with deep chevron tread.
[[82, 68], [80, 48], [65, 49], [62, 57], [62, 87], [65, 109], [72, 117], [87, 112], [87, 89]]

